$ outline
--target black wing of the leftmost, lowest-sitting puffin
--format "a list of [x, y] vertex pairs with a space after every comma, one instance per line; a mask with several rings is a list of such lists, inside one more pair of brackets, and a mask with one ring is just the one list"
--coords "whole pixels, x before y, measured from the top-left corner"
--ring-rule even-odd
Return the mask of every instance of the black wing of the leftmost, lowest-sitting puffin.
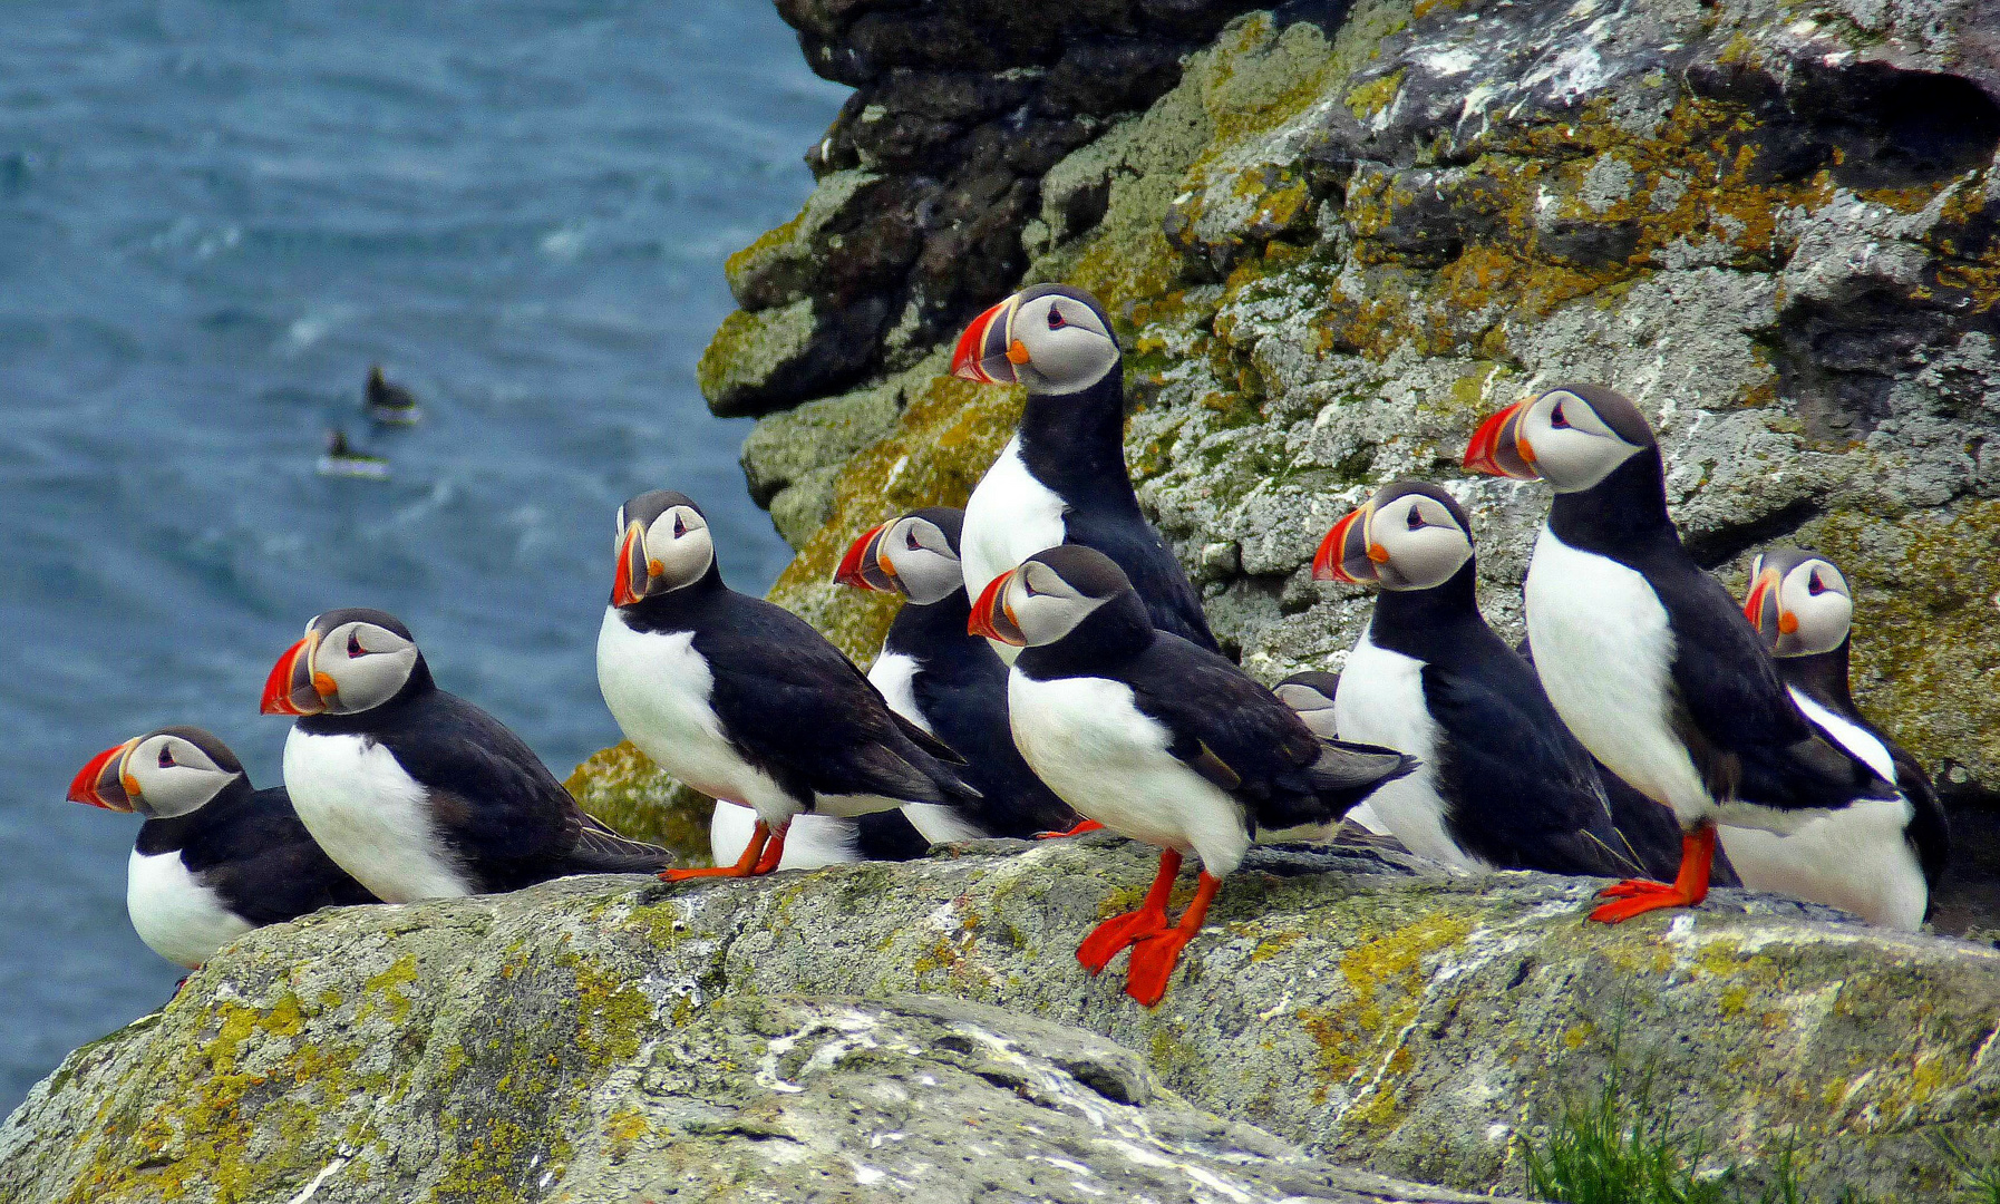
[[282, 786], [218, 798], [180, 822], [192, 824], [182, 864], [252, 924], [382, 902], [320, 850]]

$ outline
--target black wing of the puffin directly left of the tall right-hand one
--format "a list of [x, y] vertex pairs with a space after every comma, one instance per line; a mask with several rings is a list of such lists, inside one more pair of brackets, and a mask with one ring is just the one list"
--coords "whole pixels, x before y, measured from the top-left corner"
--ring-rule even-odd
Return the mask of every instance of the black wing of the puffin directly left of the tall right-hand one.
[[[1504, 646], [1498, 652], [1514, 656]], [[1488, 658], [1482, 676], [1424, 666], [1424, 702], [1446, 732], [1442, 764], [1432, 768], [1450, 784], [1452, 834], [1502, 870], [1644, 874], [1612, 822], [1590, 754], [1562, 726], [1526, 662], [1516, 664], [1520, 672], [1510, 674], [1500, 658]], [[1672, 826], [1664, 806], [1654, 810]]]

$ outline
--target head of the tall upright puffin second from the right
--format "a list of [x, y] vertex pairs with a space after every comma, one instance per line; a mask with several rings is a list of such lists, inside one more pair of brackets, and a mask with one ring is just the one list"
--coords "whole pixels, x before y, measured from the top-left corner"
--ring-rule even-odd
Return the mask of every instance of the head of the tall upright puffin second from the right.
[[1466, 468], [1580, 494], [1640, 452], [1658, 448], [1652, 424], [1602, 384], [1560, 384], [1488, 418], [1466, 446]]

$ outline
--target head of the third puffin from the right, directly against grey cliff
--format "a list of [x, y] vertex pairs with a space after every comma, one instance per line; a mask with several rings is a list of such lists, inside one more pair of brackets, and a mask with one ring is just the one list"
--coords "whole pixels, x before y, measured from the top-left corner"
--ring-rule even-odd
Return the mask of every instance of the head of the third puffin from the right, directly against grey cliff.
[[1312, 558], [1322, 582], [1434, 590], [1472, 560], [1472, 520], [1458, 498], [1420, 480], [1382, 486], [1334, 524]]

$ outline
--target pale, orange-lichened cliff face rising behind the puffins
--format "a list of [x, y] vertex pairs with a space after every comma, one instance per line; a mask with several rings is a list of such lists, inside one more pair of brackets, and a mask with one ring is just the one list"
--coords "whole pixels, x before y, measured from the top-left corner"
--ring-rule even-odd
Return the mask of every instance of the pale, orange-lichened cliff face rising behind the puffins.
[[[972, 0], [784, 8], [836, 78], [830, 64], [920, 54], [990, 18]], [[1016, 238], [950, 282], [906, 276], [958, 300], [892, 322], [882, 368], [848, 392], [798, 398], [870, 422], [878, 390], [926, 400], [858, 452], [862, 424], [824, 458], [786, 428], [786, 456], [810, 468], [770, 494], [800, 550], [774, 596], [872, 654], [886, 610], [820, 584], [846, 538], [900, 506], [962, 502], [1006, 434], [1002, 390], [936, 380], [944, 318], [1066, 280], [1118, 322], [1142, 502], [1254, 674], [1338, 668], [1368, 598], [1312, 582], [1310, 554], [1402, 474], [1468, 504], [1482, 598], [1514, 628], [1546, 492], [1468, 480], [1458, 456], [1522, 392], [1602, 380], [1658, 422], [1696, 556], [1734, 580], [1766, 542], [1824, 546], [1858, 586], [1862, 704], [1924, 760], [2000, 782], [2000, 68], [1984, 12], [1358, 0], [1208, 24], [1142, 112], [1088, 110], [1080, 146], [1020, 160], [1014, 184], [952, 218]], [[1022, 38], [964, 62], [998, 70]], [[836, 126], [856, 148], [864, 130], [962, 120], [918, 76], [856, 70], [868, 100]], [[1012, 102], [974, 92], [952, 112]], [[1042, 92], [1018, 112], [1058, 120], [1052, 106]], [[848, 170], [916, 186], [990, 154], [980, 138], [924, 146], [822, 186], [848, 188]], [[806, 292], [860, 270], [812, 262], [828, 274], [794, 262]], [[766, 462], [746, 454], [754, 480]]]

